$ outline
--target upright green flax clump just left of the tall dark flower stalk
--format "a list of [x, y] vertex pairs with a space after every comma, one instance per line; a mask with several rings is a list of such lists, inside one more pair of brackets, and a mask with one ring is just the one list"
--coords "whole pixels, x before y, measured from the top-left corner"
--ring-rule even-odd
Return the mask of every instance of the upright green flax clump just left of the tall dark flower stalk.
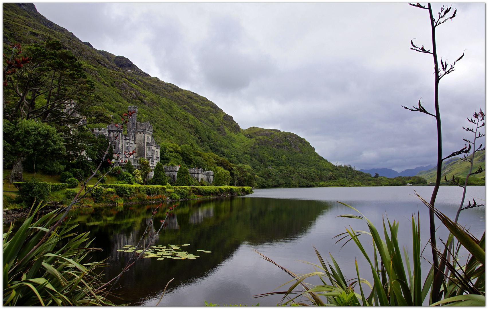
[[[299, 296], [305, 296], [312, 305], [316, 306], [323, 306], [323, 304], [336, 306], [359, 306], [360, 304], [362, 304], [362, 306], [422, 306], [432, 283], [433, 272], [431, 269], [427, 275], [427, 279], [422, 282], [420, 265], [422, 252], [418, 216], [415, 218], [415, 216], [412, 215], [413, 259], [410, 260], [407, 249], [404, 247], [403, 250], [400, 250], [398, 245], [398, 222], [393, 221], [393, 223], [391, 223], [388, 219], [386, 222], [383, 220], [383, 233], [385, 237], [383, 240], [377, 228], [361, 212], [347, 204], [341, 204], [355, 210], [360, 215], [345, 214], [340, 215], [340, 217], [365, 221], [369, 232], [354, 231], [349, 227], [349, 229], [346, 229], [345, 233], [336, 236], [340, 237], [338, 242], [348, 238], [346, 243], [352, 240], [356, 244], [369, 264], [373, 282], [370, 283], [360, 277], [357, 261], [355, 262], [357, 277], [349, 281], [346, 280], [334, 257], [330, 255], [332, 264], [329, 262], [326, 264], [321, 254], [314, 248], [320, 261], [320, 265], [306, 262], [313, 265], [316, 271], [296, 276], [294, 280], [296, 280], [297, 283], [302, 283], [305, 278], [319, 276], [323, 284], [310, 286], [304, 283], [302, 285], [305, 287], [304, 290], [294, 291], [293, 289], [297, 287], [297, 283], [295, 283], [287, 291], [278, 292], [285, 294], [282, 299], [282, 304], [294, 303], [305, 305], [305, 303], [295, 302]], [[361, 234], [369, 235], [372, 238], [372, 253], [368, 253], [366, 247], [363, 245], [364, 242], [359, 240], [358, 236]], [[327, 283], [326, 280], [328, 280], [329, 283]], [[371, 292], [367, 297], [363, 289], [364, 285], [371, 289]], [[359, 293], [357, 290], [359, 290]], [[321, 293], [317, 294], [317, 292]], [[289, 297], [292, 293], [297, 293], [298, 295], [285, 301], [285, 298]], [[319, 302], [316, 298], [309, 297], [308, 294], [310, 293], [316, 293], [317, 296], [325, 296], [325, 301], [321, 300]], [[273, 293], [266, 293], [262, 296], [269, 294]]]

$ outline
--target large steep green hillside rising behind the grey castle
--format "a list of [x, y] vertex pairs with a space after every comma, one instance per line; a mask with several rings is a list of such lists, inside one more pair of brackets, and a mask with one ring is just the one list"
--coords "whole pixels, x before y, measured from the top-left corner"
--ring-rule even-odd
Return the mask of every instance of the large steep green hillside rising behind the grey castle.
[[[118, 119], [129, 105], [137, 105], [138, 121], [150, 121], [154, 125], [153, 136], [161, 144], [162, 163], [197, 165], [214, 171], [222, 167], [229, 172], [227, 181], [241, 186], [386, 183], [372, 181], [370, 174], [356, 171], [354, 167], [331, 164], [309, 142], [293, 133], [257, 127], [243, 130], [232, 116], [207, 98], [151, 77], [125, 57], [93, 48], [44, 18], [34, 4], [3, 3], [6, 55], [9, 44], [20, 43], [25, 48], [46, 40], [60, 41], [62, 49], [78, 58], [87, 78], [93, 81], [94, 104], [81, 111], [87, 118], [87, 127], [105, 127], [111, 121], [109, 115]], [[15, 96], [11, 97], [12, 90], [7, 88], [4, 88], [4, 119], [16, 101]], [[58, 127], [58, 130], [65, 129]], [[7, 162], [4, 168], [12, 167]]]

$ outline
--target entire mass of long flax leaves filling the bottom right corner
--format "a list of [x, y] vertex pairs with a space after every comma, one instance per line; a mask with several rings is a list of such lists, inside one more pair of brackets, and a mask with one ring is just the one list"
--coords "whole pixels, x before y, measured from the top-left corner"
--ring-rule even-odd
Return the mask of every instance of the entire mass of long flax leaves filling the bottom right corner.
[[[336, 243], [346, 239], [346, 243], [352, 240], [356, 244], [369, 264], [373, 282], [370, 283], [360, 277], [357, 261], [355, 262], [357, 277], [352, 280], [346, 280], [334, 257], [330, 255], [332, 264], [329, 262], [325, 263], [321, 254], [315, 248], [320, 265], [305, 262], [313, 265], [315, 271], [302, 275], [296, 275], [290, 270], [286, 270], [258, 252], [264, 259], [277, 265], [293, 277], [292, 280], [282, 286], [291, 282], [294, 283], [286, 291], [270, 292], [256, 296], [284, 294], [279, 305], [422, 306], [424, 301], [428, 299], [428, 303], [432, 306], [484, 306], [485, 234], [483, 234], [481, 239], [476, 239], [466, 229], [431, 206], [420, 195], [417, 194], [417, 196], [451, 232], [449, 240], [458, 241], [455, 251], [450, 252], [454, 256], [451, 262], [446, 259], [448, 249], [444, 241], [441, 240], [445, 245], [445, 251], [436, 251], [443, 267], [447, 267], [449, 270], [442, 282], [441, 299], [439, 301], [433, 302], [431, 294], [434, 266], [430, 268], [425, 280], [422, 280], [421, 261], [423, 256], [419, 215], [412, 215], [412, 258], [410, 259], [407, 248], [403, 247], [401, 250], [398, 244], [398, 222], [390, 222], [388, 218], [386, 218], [386, 221], [383, 219], [384, 238], [382, 239], [380, 232], [371, 221], [361, 212], [344, 203], [341, 204], [355, 210], [359, 215], [344, 214], [339, 217], [363, 220], [367, 224], [368, 231], [354, 231], [349, 226], [349, 229], [346, 228], [346, 232], [334, 238], [339, 238]], [[373, 252], [368, 253], [367, 247], [364, 245], [366, 243], [359, 239], [362, 234], [371, 237], [371, 243], [367, 242], [367, 244], [373, 247]], [[461, 257], [459, 257], [462, 248], [469, 252], [466, 264], [461, 264]], [[305, 283], [305, 279], [312, 276], [318, 276], [323, 284], [311, 285]], [[326, 282], [327, 280], [328, 282]], [[303, 289], [295, 290], [299, 285]], [[364, 291], [365, 285], [371, 289], [367, 296]], [[325, 299], [321, 299], [320, 296], [325, 296]], [[306, 299], [305, 302], [303, 299]]]

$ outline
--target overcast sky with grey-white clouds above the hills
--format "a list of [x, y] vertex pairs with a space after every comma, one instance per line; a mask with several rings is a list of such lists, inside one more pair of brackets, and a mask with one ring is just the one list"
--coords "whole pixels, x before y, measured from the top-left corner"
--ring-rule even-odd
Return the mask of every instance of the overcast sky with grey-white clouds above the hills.
[[[35, 3], [82, 41], [198, 93], [241, 128], [304, 137], [332, 163], [403, 171], [436, 162], [428, 11], [407, 3]], [[437, 12], [442, 4], [435, 3]], [[444, 156], [485, 106], [485, 4], [459, 3], [438, 56]]]

